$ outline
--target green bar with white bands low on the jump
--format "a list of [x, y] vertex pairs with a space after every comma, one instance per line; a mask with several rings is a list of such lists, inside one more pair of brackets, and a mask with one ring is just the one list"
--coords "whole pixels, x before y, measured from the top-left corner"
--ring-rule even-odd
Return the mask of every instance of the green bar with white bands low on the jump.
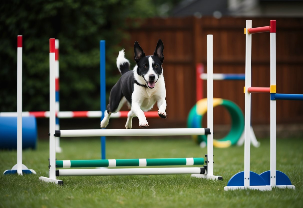
[[121, 166], [166, 166], [166, 165], [203, 165], [204, 158], [156, 158], [156, 159], [91, 159], [56, 160], [57, 168], [80, 167], [121, 167]]

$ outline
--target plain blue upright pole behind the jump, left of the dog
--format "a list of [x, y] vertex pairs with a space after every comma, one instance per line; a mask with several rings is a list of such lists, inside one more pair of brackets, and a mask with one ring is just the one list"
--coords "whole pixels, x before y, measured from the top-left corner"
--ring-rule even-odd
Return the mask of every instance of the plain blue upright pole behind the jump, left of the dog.
[[[100, 40], [100, 110], [102, 112], [101, 120], [106, 110], [106, 85], [105, 85], [105, 40]], [[101, 140], [101, 159], [105, 159], [105, 136]]]

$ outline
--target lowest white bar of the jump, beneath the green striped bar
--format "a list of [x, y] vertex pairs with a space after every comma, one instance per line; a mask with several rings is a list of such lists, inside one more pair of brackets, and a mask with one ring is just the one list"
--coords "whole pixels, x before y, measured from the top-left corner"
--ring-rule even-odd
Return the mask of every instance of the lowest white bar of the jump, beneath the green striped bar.
[[111, 176], [111, 175], [166, 175], [200, 173], [199, 167], [182, 168], [116, 168], [116, 169], [59, 169], [59, 176]]

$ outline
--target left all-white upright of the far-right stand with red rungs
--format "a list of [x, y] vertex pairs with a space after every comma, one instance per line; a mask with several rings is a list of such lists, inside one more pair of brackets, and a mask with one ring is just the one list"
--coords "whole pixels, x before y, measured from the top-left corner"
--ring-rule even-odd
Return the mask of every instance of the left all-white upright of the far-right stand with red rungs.
[[250, 177], [250, 112], [251, 112], [251, 95], [248, 88], [251, 87], [251, 34], [248, 29], [251, 28], [251, 20], [246, 20], [245, 32], [245, 118], [244, 118], [244, 187], [249, 187]]

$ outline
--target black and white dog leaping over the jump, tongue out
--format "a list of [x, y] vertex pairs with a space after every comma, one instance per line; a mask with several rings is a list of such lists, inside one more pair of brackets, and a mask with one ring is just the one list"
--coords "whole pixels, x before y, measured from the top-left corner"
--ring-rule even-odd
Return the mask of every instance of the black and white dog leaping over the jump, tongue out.
[[134, 51], [137, 65], [132, 71], [129, 70], [129, 61], [124, 57], [124, 50], [119, 52], [117, 67], [122, 76], [110, 92], [109, 104], [101, 121], [101, 128], [108, 125], [111, 114], [118, 112], [126, 101], [131, 109], [127, 114], [126, 129], [132, 128], [134, 116], [138, 117], [139, 126], [148, 127], [144, 111], [150, 110], [155, 102], [159, 109], [158, 115], [163, 119], [166, 118], [166, 91], [162, 69], [163, 48], [163, 42], [159, 39], [154, 55], [145, 56], [136, 41]]

